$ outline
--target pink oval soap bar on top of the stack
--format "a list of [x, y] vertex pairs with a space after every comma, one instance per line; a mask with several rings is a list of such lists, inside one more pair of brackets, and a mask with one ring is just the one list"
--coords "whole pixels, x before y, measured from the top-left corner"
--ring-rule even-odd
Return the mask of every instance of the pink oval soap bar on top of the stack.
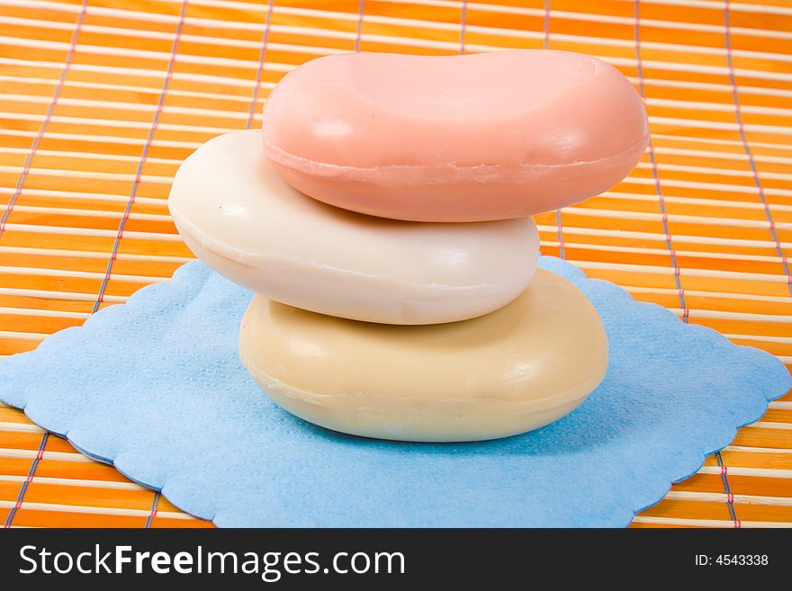
[[649, 141], [614, 67], [567, 51], [314, 59], [266, 102], [264, 154], [294, 188], [383, 218], [482, 221], [582, 201]]

